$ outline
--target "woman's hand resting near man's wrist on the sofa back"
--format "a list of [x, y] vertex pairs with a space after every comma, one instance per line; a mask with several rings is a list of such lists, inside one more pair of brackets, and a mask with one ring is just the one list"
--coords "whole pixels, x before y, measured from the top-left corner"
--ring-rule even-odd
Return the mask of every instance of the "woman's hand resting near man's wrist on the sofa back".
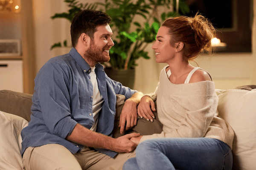
[[152, 111], [156, 111], [154, 101], [149, 96], [143, 96], [137, 108], [138, 115], [153, 122], [155, 117]]

